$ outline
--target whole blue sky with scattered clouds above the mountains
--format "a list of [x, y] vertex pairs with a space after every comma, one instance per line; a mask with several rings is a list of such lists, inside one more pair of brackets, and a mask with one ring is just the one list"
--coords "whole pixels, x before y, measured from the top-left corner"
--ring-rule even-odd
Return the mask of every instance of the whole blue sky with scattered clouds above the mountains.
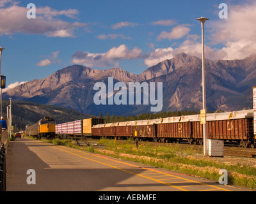
[[[35, 4], [36, 18], [27, 18]], [[221, 3], [228, 17], [220, 18]], [[9, 87], [81, 64], [140, 74], [179, 52], [244, 59], [256, 52], [256, 3], [210, 0], [0, 0], [1, 74]]]

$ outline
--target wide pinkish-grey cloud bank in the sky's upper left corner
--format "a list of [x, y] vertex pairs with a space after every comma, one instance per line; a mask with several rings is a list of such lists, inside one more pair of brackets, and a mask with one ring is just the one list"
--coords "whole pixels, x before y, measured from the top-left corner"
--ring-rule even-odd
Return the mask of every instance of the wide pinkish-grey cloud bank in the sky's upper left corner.
[[19, 6], [15, 1], [0, 1], [0, 35], [1, 34], [43, 34], [49, 37], [74, 37], [74, 30], [87, 27], [80, 22], [67, 22], [60, 16], [76, 18], [77, 10], [54, 10], [49, 6], [36, 7], [36, 18], [27, 18], [28, 8]]

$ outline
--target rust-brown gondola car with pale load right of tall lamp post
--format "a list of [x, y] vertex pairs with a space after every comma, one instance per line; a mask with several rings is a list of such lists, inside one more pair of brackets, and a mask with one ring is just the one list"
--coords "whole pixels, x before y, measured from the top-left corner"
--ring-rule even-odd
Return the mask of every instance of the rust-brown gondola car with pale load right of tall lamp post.
[[207, 138], [237, 142], [243, 147], [255, 147], [253, 133], [253, 110], [209, 113]]

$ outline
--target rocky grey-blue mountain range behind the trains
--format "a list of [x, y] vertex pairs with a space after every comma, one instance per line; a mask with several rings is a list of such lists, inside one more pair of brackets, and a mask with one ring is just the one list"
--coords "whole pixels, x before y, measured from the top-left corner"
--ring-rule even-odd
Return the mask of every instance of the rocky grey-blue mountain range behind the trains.
[[[256, 55], [243, 60], [205, 59], [207, 111], [233, 111], [252, 108], [252, 87], [256, 86]], [[121, 68], [92, 69], [72, 65], [49, 77], [32, 80], [3, 93], [3, 99], [31, 101], [71, 108], [92, 115], [138, 115], [150, 112], [151, 105], [95, 105], [93, 89], [97, 82], [108, 87], [116, 82], [162, 82], [162, 111], [202, 108], [202, 59], [180, 53], [135, 75]], [[118, 91], [114, 91], [114, 94]], [[109, 96], [108, 96], [109, 97]], [[142, 99], [142, 97], [141, 97]]]

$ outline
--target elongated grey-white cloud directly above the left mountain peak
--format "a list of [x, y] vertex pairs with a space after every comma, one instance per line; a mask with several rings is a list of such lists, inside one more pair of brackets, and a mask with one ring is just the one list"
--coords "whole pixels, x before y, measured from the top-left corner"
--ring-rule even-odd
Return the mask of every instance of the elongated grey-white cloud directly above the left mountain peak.
[[72, 63], [83, 64], [90, 67], [109, 67], [118, 66], [119, 61], [124, 59], [136, 59], [141, 55], [140, 48], [130, 50], [124, 44], [119, 47], [113, 47], [108, 52], [90, 53], [77, 51], [72, 55]]

